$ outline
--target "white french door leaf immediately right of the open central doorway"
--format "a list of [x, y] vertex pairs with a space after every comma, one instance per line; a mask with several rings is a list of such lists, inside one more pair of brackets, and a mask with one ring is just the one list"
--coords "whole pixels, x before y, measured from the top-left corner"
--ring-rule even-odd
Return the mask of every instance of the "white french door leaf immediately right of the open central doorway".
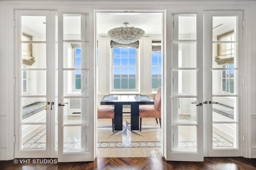
[[166, 95], [170, 96], [166, 98], [166, 160], [204, 159], [203, 56], [199, 34], [202, 24], [198, 22], [202, 18], [202, 13], [172, 14], [171, 81], [166, 83], [170, 93]]

